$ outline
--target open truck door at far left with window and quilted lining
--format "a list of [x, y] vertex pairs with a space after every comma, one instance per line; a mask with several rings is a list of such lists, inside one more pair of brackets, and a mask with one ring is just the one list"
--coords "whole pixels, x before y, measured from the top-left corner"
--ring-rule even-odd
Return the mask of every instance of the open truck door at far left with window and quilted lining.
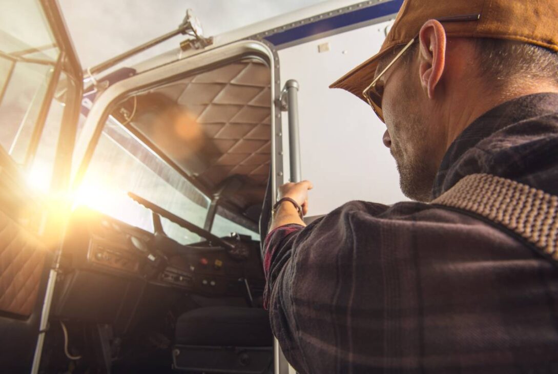
[[0, 20], [0, 371], [30, 372], [83, 77], [56, 2], [8, 2]]

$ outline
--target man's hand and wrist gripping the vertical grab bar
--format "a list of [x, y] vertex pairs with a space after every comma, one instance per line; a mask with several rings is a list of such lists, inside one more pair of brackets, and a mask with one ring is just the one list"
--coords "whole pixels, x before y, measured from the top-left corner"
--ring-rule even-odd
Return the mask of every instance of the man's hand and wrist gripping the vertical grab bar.
[[[302, 181], [300, 183], [286, 183], [279, 188], [279, 199], [291, 198], [297, 202], [302, 208], [302, 214], [308, 213], [308, 191], [312, 189], [310, 181]], [[306, 226], [304, 221], [300, 219], [299, 213], [291, 202], [283, 202], [277, 208], [275, 216], [272, 218], [270, 232], [280, 226], [296, 223]]]

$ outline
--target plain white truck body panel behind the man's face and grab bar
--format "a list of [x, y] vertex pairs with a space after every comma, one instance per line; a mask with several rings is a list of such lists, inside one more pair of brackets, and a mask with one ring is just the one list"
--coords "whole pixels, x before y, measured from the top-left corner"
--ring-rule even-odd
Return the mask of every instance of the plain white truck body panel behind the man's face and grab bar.
[[[395, 161], [382, 143], [386, 126], [362, 100], [328, 88], [380, 49], [392, 23], [384, 21], [278, 51], [281, 87], [288, 79], [300, 84], [302, 178], [314, 183], [310, 216], [328, 213], [350, 200], [393, 204], [406, 199]], [[319, 46], [329, 51], [319, 52]], [[282, 128], [287, 135], [287, 116], [282, 116]], [[288, 137], [283, 136], [283, 141], [288, 176]]]

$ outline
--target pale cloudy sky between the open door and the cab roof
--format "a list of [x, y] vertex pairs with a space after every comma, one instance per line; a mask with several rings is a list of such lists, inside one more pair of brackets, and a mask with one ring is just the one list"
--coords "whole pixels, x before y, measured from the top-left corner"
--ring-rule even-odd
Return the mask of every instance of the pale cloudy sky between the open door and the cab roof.
[[[323, 0], [59, 0], [81, 66], [85, 69], [175, 30], [191, 8], [205, 36], [218, 35]], [[177, 36], [136, 61], [178, 47]]]

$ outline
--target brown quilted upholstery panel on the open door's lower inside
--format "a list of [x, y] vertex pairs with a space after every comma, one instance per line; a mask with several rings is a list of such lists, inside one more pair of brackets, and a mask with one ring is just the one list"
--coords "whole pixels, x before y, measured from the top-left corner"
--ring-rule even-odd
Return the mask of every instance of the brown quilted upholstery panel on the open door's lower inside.
[[0, 211], [0, 310], [31, 314], [45, 255], [37, 238]]

